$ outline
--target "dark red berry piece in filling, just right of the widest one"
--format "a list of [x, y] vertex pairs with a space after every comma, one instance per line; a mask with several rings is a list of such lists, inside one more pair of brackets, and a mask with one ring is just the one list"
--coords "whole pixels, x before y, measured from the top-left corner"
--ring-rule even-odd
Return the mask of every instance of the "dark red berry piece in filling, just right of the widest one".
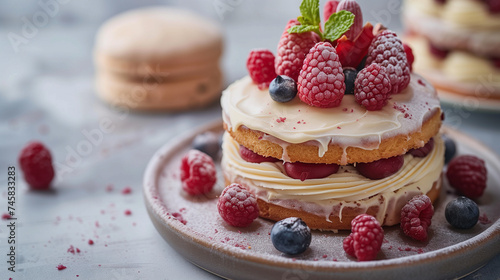
[[404, 162], [404, 156], [401, 155], [372, 162], [360, 162], [356, 164], [356, 170], [366, 178], [378, 180], [398, 172]]

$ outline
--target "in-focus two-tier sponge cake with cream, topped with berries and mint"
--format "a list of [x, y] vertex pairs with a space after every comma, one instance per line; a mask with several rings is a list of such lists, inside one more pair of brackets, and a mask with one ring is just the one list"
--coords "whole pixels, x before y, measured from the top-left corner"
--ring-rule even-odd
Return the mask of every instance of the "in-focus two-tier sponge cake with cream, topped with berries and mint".
[[[324, 33], [305, 28], [307, 18], [291, 20], [276, 57], [252, 51], [249, 76], [222, 94], [224, 177], [255, 194], [263, 218], [338, 230], [367, 213], [395, 225], [412, 197], [439, 195], [436, 90], [409, 72], [395, 33], [359, 18], [351, 0], [332, 11]], [[328, 37], [329, 22], [354, 29], [351, 38]], [[284, 84], [296, 85], [296, 96], [280, 97]]]

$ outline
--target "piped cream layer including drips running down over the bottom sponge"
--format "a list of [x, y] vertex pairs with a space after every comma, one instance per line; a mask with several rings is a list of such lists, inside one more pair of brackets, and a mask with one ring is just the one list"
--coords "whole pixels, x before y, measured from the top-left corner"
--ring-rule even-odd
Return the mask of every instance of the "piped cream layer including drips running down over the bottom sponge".
[[[404, 156], [403, 167], [395, 174], [370, 180], [351, 166], [341, 166], [339, 171], [326, 178], [301, 181], [288, 177], [282, 162], [250, 163], [238, 152], [238, 143], [226, 133], [223, 142], [222, 169], [231, 182], [242, 182], [258, 198], [300, 211], [324, 215], [326, 219], [337, 209], [341, 216], [343, 207], [381, 205], [377, 219], [385, 224], [399, 222], [399, 217], [388, 209], [398, 203], [397, 192], [404, 188], [405, 194], [427, 193], [438, 181], [444, 165], [444, 143], [434, 137], [434, 149], [424, 158]], [[362, 204], [359, 203], [362, 201]], [[400, 203], [400, 202], [399, 202]], [[387, 215], [386, 215], [387, 214]]]

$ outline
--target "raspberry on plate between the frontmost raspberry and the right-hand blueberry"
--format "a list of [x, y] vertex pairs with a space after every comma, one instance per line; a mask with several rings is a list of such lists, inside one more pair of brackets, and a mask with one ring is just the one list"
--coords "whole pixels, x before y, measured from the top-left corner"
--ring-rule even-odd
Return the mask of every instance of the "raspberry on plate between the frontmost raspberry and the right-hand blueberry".
[[425, 194], [414, 196], [401, 208], [401, 229], [409, 237], [424, 241], [433, 215], [431, 199]]

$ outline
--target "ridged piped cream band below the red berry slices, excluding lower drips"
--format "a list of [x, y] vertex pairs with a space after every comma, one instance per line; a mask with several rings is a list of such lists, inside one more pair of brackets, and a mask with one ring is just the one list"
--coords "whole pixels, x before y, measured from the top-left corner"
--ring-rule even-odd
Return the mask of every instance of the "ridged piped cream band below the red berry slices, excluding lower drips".
[[403, 167], [394, 175], [370, 180], [353, 166], [341, 166], [326, 178], [297, 180], [285, 175], [281, 162], [250, 163], [239, 155], [239, 144], [226, 133], [223, 142], [222, 167], [231, 181], [244, 178], [264, 201], [298, 200], [331, 204], [332, 201], [359, 201], [382, 194], [388, 201], [401, 188], [427, 193], [441, 175], [444, 144], [434, 137], [434, 149], [424, 158], [404, 156]]

